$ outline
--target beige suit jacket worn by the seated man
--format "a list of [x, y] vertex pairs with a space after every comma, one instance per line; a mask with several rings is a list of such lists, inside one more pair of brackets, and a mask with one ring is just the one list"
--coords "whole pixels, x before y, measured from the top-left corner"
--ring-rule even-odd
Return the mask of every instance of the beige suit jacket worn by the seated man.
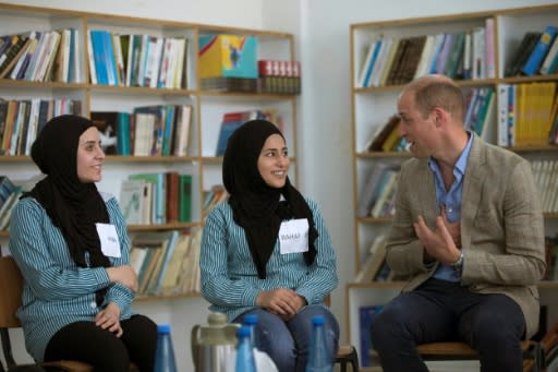
[[[436, 191], [427, 159], [412, 158], [401, 169], [387, 261], [413, 290], [429, 278], [413, 221], [422, 215], [435, 229]], [[545, 271], [544, 220], [530, 164], [474, 136], [463, 179], [461, 285], [472, 292], [504, 293], [523, 311], [526, 335], [538, 324], [536, 284]]]

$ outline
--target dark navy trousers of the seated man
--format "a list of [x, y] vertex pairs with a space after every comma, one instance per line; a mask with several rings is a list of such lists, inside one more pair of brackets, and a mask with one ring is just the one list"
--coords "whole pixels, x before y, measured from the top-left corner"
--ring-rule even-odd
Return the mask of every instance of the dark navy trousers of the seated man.
[[428, 371], [415, 346], [449, 340], [478, 350], [483, 372], [521, 372], [524, 329], [523, 312], [507, 296], [430, 278], [389, 302], [371, 332], [385, 372]]

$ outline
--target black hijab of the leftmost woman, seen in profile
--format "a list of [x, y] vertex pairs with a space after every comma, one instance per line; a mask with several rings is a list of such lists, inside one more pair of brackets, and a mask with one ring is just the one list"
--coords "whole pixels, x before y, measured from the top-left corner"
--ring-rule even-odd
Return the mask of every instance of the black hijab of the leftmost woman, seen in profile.
[[77, 266], [110, 266], [100, 250], [96, 223], [109, 223], [109, 215], [95, 183], [77, 178], [80, 136], [95, 124], [82, 117], [63, 115], [52, 118], [33, 143], [33, 161], [47, 177], [23, 195], [33, 196], [47, 211], [52, 224], [60, 228], [70, 255]]

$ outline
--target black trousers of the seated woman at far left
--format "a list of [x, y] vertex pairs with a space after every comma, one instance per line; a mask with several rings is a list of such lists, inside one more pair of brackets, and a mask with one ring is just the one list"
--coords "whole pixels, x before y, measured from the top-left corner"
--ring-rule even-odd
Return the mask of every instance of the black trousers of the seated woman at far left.
[[121, 321], [120, 338], [94, 322], [66, 325], [52, 336], [45, 361], [77, 360], [92, 364], [95, 371], [125, 372], [130, 361], [141, 372], [151, 372], [157, 349], [157, 325], [147, 316], [133, 315]]

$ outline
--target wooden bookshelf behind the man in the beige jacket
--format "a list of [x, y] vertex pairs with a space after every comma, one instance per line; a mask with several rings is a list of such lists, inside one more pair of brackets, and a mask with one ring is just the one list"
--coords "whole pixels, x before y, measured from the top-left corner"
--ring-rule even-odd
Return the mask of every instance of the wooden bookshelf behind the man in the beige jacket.
[[[363, 65], [374, 40], [404, 39], [416, 36], [436, 36], [441, 33], [458, 34], [485, 27], [488, 19], [494, 20], [494, 74], [486, 73], [475, 79], [463, 80], [457, 77], [457, 83], [466, 96], [475, 88], [497, 88], [501, 84], [529, 84], [541, 82], [558, 82], [558, 74], [533, 76], [505, 76], [505, 68], [511, 63], [514, 50], [526, 32], [543, 32], [546, 25], [555, 25], [558, 15], [558, 5], [542, 5], [532, 8], [504, 9], [496, 11], [462, 13], [436, 17], [403, 19], [381, 22], [355, 23], [350, 25], [351, 48], [351, 100], [352, 100], [352, 166], [353, 166], [353, 203], [354, 203], [354, 237], [356, 275], [366, 261], [368, 248], [374, 239], [386, 233], [391, 223], [391, 216], [383, 215], [371, 217], [359, 213], [362, 195], [366, 191], [366, 181], [373, 169], [379, 164], [398, 167], [409, 158], [405, 152], [368, 152], [367, 145], [373, 133], [383, 127], [390, 116], [396, 113], [396, 103], [404, 84], [372, 84], [364, 86], [361, 77]], [[489, 38], [488, 38], [489, 39]], [[486, 40], [486, 38], [485, 38]], [[379, 57], [378, 57], [379, 58]], [[387, 57], [389, 60], [389, 57]], [[389, 64], [388, 64], [389, 65]], [[418, 64], [417, 64], [418, 65]], [[487, 69], [488, 71], [488, 69]], [[374, 74], [374, 72], [372, 72]], [[389, 74], [389, 73], [388, 73]], [[386, 82], [386, 81], [385, 81]], [[498, 104], [494, 101], [492, 110], [487, 111], [485, 123], [488, 125], [488, 142], [498, 144]], [[558, 147], [536, 143], [506, 146], [529, 160], [558, 159]], [[555, 236], [558, 231], [558, 219], [555, 211], [545, 213], [545, 228], [547, 236]], [[349, 341], [361, 345], [360, 312], [364, 305], [387, 303], [402, 288], [400, 281], [366, 281], [348, 283], [345, 286], [345, 316], [349, 327]], [[541, 283], [541, 303], [548, 307], [548, 324], [553, 324], [558, 309], [558, 283]], [[363, 353], [363, 350], [359, 350]], [[373, 358], [373, 357], [372, 357]], [[362, 357], [361, 357], [362, 360]], [[372, 360], [371, 367], [364, 371], [377, 370], [377, 361]]]

